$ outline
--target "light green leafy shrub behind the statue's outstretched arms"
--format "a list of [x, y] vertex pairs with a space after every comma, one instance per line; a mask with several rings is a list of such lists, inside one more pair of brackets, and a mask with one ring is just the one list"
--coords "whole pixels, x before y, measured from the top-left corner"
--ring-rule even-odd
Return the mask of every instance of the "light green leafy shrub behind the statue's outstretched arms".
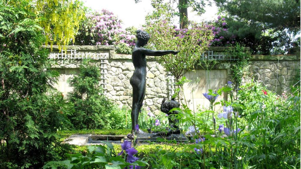
[[213, 38], [205, 24], [190, 23], [189, 29], [177, 29], [172, 25], [172, 8], [168, 3], [156, 4], [155, 11], [146, 17], [146, 31], [151, 35], [149, 47], [155, 50], [175, 50], [177, 55], [158, 57], [166, 71], [179, 81], [206, 51]]

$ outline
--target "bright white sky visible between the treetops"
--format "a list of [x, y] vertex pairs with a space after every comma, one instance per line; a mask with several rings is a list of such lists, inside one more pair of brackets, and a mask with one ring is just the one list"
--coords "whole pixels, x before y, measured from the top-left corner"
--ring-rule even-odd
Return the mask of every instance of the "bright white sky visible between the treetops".
[[[135, 0], [83, 0], [86, 7], [92, 8], [92, 10], [101, 11], [106, 9], [117, 15], [120, 20], [123, 21], [123, 27], [127, 28], [134, 26], [138, 29], [144, 24], [145, 16], [147, 13], [153, 11], [151, 6], [151, 0], [141, 0], [139, 3], [135, 3]], [[201, 17], [196, 16], [195, 13], [188, 9], [188, 19], [200, 22], [202, 20], [215, 20], [217, 15], [217, 7], [212, 4], [212, 7], [205, 8], [206, 13]], [[134, 19], [135, 16], [135, 19]], [[177, 24], [178, 20], [175, 21]]]

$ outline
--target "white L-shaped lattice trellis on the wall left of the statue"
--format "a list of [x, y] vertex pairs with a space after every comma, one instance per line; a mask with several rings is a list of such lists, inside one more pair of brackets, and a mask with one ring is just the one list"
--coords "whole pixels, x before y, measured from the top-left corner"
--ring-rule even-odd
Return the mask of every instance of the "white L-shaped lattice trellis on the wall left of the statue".
[[100, 85], [103, 88], [104, 94], [107, 93], [107, 64], [108, 53], [76, 53], [76, 50], [71, 49], [66, 52], [61, 50], [61, 53], [51, 53], [49, 59], [93, 59], [100, 60], [101, 81]]

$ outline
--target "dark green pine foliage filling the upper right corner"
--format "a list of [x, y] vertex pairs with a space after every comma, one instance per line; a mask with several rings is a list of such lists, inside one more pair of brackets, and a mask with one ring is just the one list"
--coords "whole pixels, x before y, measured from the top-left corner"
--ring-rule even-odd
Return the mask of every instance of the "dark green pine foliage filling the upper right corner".
[[252, 54], [284, 54], [299, 39], [298, 0], [215, 2], [229, 14], [228, 32], [236, 37], [236, 42], [250, 47]]

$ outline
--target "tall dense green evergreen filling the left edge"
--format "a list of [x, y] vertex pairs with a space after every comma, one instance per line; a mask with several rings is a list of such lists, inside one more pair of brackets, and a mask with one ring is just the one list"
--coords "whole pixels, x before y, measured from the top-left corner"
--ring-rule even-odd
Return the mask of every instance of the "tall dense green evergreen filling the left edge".
[[57, 130], [68, 125], [68, 104], [51, 90], [45, 40], [26, 0], [0, 2], [0, 168], [40, 168], [70, 146]]

